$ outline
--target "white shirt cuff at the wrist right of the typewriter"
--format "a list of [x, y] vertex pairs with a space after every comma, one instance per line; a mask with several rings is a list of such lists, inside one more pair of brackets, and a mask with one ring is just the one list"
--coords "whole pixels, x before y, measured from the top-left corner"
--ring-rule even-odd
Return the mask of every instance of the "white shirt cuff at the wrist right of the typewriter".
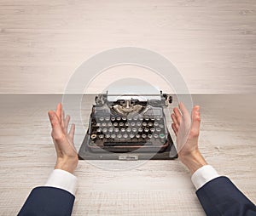
[[191, 180], [195, 185], [195, 189], [200, 189], [203, 185], [207, 184], [212, 179], [219, 177], [217, 171], [210, 165], [205, 165], [195, 171], [191, 176]]

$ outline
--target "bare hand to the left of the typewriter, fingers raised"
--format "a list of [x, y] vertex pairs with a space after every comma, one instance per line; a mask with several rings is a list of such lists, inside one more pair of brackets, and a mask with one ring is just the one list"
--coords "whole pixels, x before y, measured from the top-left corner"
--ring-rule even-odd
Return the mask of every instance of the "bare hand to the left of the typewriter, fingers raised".
[[61, 103], [57, 105], [56, 111], [49, 111], [49, 121], [51, 123], [51, 136], [55, 144], [57, 161], [55, 168], [73, 173], [78, 166], [79, 157], [73, 144], [75, 125], [72, 124], [67, 132], [70, 117], [65, 117]]

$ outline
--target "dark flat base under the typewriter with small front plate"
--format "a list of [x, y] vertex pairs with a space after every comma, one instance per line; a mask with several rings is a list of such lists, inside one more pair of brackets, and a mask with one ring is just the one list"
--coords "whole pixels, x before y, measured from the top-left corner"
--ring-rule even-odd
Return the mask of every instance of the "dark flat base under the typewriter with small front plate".
[[172, 143], [172, 138], [169, 135], [168, 141], [170, 145], [163, 152], [108, 152], [102, 150], [102, 152], [92, 152], [88, 147], [89, 135], [84, 137], [83, 144], [79, 149], [79, 160], [122, 160], [122, 161], [134, 161], [134, 160], [173, 160], [177, 158], [177, 151]]

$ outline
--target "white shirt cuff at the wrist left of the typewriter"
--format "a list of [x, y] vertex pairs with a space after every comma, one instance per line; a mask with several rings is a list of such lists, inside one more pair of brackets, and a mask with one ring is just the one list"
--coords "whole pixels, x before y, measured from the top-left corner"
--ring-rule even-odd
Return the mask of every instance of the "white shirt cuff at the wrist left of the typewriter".
[[55, 169], [50, 173], [45, 186], [67, 190], [74, 196], [77, 189], [77, 182], [78, 178], [72, 173], [68, 173], [62, 169]]

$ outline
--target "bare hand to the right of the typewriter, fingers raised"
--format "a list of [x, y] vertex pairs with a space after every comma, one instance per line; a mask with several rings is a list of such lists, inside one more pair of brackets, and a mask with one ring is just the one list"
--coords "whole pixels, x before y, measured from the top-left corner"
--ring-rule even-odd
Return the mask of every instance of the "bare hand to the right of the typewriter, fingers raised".
[[177, 136], [177, 151], [181, 162], [189, 168], [190, 173], [195, 173], [198, 168], [207, 165], [198, 149], [200, 131], [200, 107], [195, 105], [189, 115], [189, 111], [179, 103], [179, 109], [175, 107], [172, 113], [172, 129]]

